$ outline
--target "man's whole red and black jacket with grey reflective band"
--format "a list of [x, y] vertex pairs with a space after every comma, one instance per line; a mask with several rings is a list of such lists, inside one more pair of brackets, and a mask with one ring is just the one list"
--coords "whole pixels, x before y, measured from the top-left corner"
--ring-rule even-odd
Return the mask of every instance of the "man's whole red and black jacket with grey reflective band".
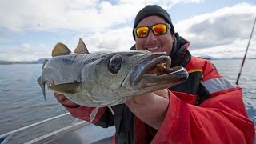
[[[170, 88], [170, 104], [159, 130], [140, 121], [124, 105], [101, 108], [93, 123], [116, 126], [116, 143], [254, 143], [254, 123], [246, 114], [242, 89], [215, 70], [202, 58], [186, 50], [189, 42], [176, 35], [180, 46], [172, 64], [184, 66], [190, 76], [186, 82]], [[175, 48], [175, 47], [174, 47]], [[66, 108], [76, 118], [89, 121], [94, 108]]]

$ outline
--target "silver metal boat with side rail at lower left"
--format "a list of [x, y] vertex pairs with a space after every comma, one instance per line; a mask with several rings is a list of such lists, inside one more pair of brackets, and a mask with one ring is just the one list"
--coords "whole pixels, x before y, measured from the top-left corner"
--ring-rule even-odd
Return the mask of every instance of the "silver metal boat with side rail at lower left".
[[14, 135], [22, 131], [33, 128], [46, 122], [53, 121], [58, 118], [62, 118], [70, 113], [60, 114], [52, 118], [47, 118], [40, 122], [35, 122], [29, 126], [21, 127], [17, 130], [12, 130], [6, 134], [0, 135], [0, 143], [26, 143], [26, 144], [56, 144], [56, 143], [74, 143], [74, 144], [100, 144], [100, 143], [112, 143], [113, 136], [115, 133], [114, 126], [108, 128], [102, 128], [100, 126], [95, 126], [90, 122], [78, 120], [74, 118], [74, 121], [70, 123], [69, 126], [62, 127], [58, 130], [54, 130], [48, 134], [39, 135], [37, 138], [32, 138], [26, 142], [21, 142], [19, 139], [15, 139]]

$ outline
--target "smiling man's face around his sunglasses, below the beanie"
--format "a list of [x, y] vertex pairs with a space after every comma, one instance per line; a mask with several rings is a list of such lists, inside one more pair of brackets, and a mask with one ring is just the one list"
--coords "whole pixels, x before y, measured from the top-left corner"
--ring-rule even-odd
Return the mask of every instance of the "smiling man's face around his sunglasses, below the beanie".
[[[138, 26], [152, 26], [157, 23], [166, 23], [164, 19], [158, 16], [150, 16], [142, 19], [138, 23]], [[146, 38], [138, 38], [135, 36], [136, 41], [136, 50], [149, 50], [151, 52], [166, 52], [167, 55], [170, 55], [171, 50], [173, 49], [174, 37], [170, 34], [170, 30], [167, 30], [166, 34], [163, 35], [154, 35], [153, 31], [150, 30]]]

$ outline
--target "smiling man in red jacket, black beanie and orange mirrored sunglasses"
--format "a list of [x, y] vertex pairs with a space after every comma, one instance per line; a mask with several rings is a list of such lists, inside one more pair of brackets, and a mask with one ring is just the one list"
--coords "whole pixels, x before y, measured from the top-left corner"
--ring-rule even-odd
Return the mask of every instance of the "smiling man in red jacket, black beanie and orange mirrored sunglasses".
[[[169, 90], [138, 95], [128, 102], [101, 108], [97, 126], [116, 127], [115, 143], [253, 143], [254, 123], [246, 114], [242, 89], [218, 74], [207, 60], [187, 50], [190, 42], [174, 33], [170, 15], [159, 6], [146, 6], [134, 21], [131, 50], [164, 51], [172, 66], [190, 76]], [[54, 94], [74, 117], [88, 121], [93, 108], [78, 106]]]

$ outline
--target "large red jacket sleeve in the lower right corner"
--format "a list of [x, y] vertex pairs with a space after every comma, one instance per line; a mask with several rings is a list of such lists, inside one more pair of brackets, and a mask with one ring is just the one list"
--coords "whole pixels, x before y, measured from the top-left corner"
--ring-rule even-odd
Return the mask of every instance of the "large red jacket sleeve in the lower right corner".
[[170, 92], [166, 118], [152, 143], [254, 143], [254, 123], [246, 114], [242, 89], [210, 98], [200, 106], [178, 97], [193, 96]]

